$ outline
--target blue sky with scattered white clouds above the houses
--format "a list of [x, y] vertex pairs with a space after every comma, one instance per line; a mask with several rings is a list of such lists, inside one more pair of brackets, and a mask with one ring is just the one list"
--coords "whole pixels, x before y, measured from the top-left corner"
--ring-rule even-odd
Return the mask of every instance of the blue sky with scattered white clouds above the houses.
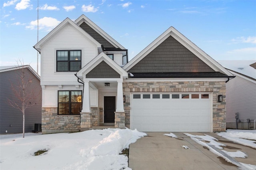
[[[170, 26], [215, 60], [256, 60], [255, 0], [39, 0], [39, 40], [82, 14], [128, 49], [129, 60]], [[0, 0], [1, 66], [23, 59], [37, 70], [36, 20], [37, 0]]]

